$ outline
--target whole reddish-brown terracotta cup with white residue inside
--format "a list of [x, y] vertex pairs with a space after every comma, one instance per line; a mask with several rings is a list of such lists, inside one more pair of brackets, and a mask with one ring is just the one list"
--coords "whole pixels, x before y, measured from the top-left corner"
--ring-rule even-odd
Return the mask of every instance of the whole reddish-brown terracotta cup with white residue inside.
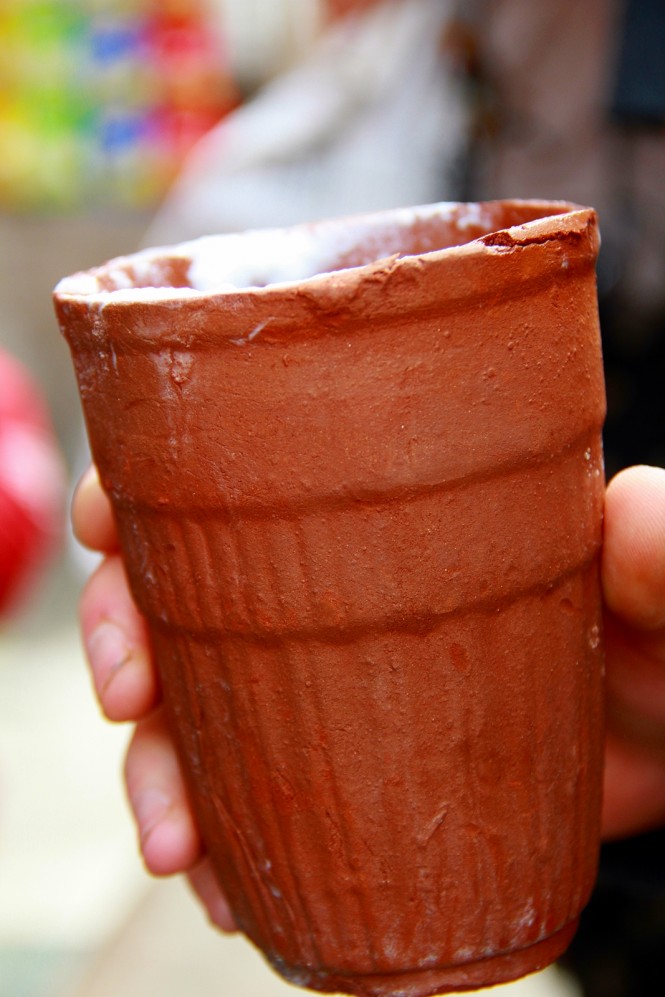
[[209, 237], [55, 294], [206, 847], [305, 987], [555, 959], [594, 881], [594, 212]]

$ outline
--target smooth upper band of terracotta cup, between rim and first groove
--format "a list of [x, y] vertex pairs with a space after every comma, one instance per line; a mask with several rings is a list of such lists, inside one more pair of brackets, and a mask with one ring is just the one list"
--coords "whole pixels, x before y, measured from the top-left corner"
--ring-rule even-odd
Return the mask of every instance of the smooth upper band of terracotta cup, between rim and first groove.
[[[313, 314], [277, 290], [274, 301], [212, 299], [193, 314], [172, 303], [168, 322], [150, 308], [128, 306], [114, 322], [112, 308], [81, 306], [77, 376], [114, 500], [240, 516], [371, 500], [538, 459], [599, 426], [591, 255], [571, 271], [556, 242], [496, 250], [483, 258], [481, 300], [475, 257], [458, 262], [473, 295], [451, 301], [459, 275], [422, 261], [406, 287], [397, 281], [402, 306], [385, 323], [359, 313], [364, 285], [355, 310], [333, 295]], [[396, 279], [368, 284], [387, 294]], [[278, 338], [268, 325], [244, 346], [227, 340], [229, 325], [247, 333], [273, 314]]]

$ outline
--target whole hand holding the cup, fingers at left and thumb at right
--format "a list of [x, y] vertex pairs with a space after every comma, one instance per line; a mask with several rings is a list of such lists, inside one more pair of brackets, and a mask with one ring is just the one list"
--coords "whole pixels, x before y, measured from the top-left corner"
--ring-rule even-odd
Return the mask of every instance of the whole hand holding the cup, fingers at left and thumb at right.
[[[187, 802], [145, 624], [94, 468], [79, 483], [72, 519], [79, 541], [104, 554], [81, 597], [81, 629], [102, 710], [136, 725], [125, 781], [145, 864], [159, 876], [186, 873], [212, 923], [232, 931]], [[613, 839], [665, 824], [665, 470], [628, 468], [609, 483], [601, 576], [608, 714], [602, 830]]]

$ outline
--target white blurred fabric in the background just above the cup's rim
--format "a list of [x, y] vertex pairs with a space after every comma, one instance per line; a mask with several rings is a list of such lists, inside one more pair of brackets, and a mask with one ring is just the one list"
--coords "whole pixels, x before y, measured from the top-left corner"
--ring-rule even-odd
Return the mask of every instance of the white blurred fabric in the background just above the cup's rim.
[[195, 148], [144, 242], [445, 198], [467, 110], [442, 38], [450, 0], [345, 18]]

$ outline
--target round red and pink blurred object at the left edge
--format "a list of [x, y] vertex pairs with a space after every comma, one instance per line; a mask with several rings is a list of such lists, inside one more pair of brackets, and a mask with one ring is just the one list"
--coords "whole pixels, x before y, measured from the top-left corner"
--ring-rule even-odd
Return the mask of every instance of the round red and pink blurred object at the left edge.
[[64, 467], [41, 393], [0, 351], [0, 617], [28, 596], [57, 549], [64, 496]]

